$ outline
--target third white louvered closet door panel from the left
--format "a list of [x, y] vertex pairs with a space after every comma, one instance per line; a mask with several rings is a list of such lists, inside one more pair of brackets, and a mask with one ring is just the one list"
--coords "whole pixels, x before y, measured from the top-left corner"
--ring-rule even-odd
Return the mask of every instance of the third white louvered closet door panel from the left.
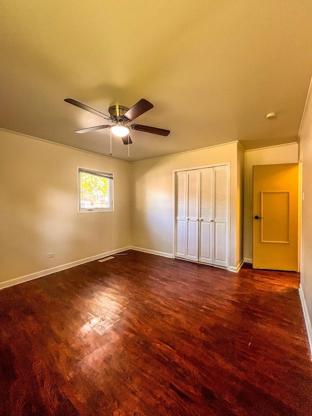
[[199, 247], [198, 260], [213, 263], [214, 212], [213, 212], [214, 168], [199, 170]]

